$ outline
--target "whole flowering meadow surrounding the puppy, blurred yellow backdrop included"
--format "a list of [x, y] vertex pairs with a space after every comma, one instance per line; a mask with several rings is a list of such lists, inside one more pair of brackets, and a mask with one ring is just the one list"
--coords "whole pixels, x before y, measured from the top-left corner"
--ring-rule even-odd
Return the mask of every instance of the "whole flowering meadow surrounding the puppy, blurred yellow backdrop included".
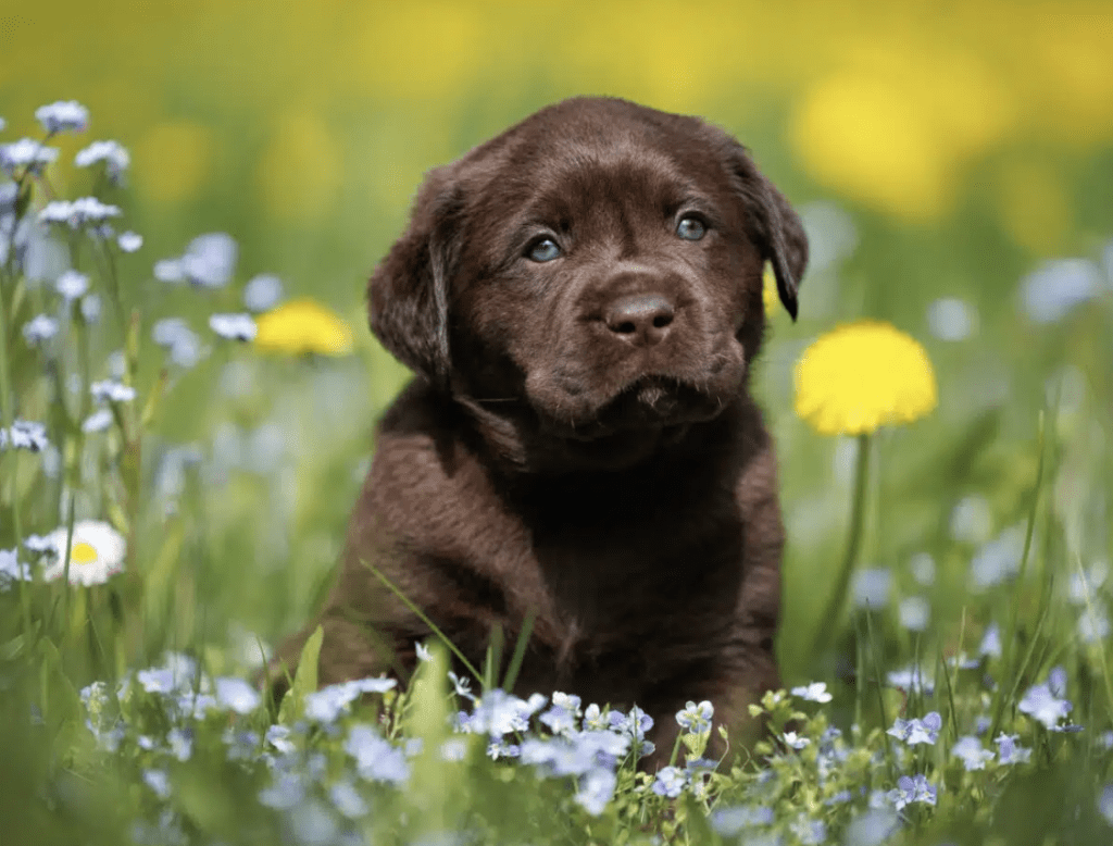
[[[716, 35], [649, 3], [534, 61], [499, 4], [248, 6], [140, 21], [129, 53], [125, 4], [90, 38], [75, 3], [58, 62], [6, 45], [0, 844], [1113, 842], [1107, 11], [769, 12], [797, 42], [740, 56], [755, 9]], [[220, 49], [162, 50], [176, 27]], [[416, 31], [435, 59], [402, 75]], [[608, 32], [628, 61], [585, 58]], [[684, 39], [684, 75], [652, 60]], [[408, 377], [370, 270], [424, 169], [582, 91], [737, 131], [809, 234], [755, 374], [788, 538], [771, 737], [709, 760], [692, 701], [639, 771], [637, 709], [511, 697], [435, 640], [405, 683], [321, 691], [311, 640], [265, 701]]]

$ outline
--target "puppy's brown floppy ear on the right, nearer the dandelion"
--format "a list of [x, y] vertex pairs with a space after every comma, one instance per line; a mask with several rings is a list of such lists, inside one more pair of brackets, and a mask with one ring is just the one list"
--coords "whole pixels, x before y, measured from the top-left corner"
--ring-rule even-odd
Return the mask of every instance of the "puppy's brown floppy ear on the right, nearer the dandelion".
[[762, 257], [772, 263], [777, 293], [785, 309], [796, 319], [797, 292], [808, 266], [808, 236], [799, 215], [785, 196], [765, 178], [740, 145], [733, 151], [733, 176], [746, 203]]

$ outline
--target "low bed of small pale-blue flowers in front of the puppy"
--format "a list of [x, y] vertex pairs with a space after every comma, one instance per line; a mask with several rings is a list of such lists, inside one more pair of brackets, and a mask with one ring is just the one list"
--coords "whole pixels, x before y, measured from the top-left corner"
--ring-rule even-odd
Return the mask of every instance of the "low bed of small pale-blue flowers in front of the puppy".
[[[18, 572], [14, 557], [0, 555], [0, 574], [9, 572]], [[423, 667], [435, 665], [426, 648], [418, 652]], [[892, 675], [917, 696], [932, 696], [916, 667]], [[929, 819], [946, 800], [943, 773], [948, 767], [977, 779], [974, 784], [986, 791], [1030, 765], [1033, 756], [1033, 748], [1022, 745], [1025, 725], [1031, 731], [1023, 718], [1020, 731], [999, 734], [988, 749], [983, 737], [989, 720], [977, 717], [973, 731], [940, 744], [948, 724], [934, 710], [899, 717], [885, 731], [866, 734], [853, 726], [845, 736], [828, 725], [824, 709], [815, 709], [833, 701], [833, 693], [824, 682], [811, 682], [792, 688], [791, 695], [769, 692], [752, 706], [777, 742], [759, 741], [748, 765], [736, 764], [728, 773], [720, 761], [702, 757], [715, 708], [709, 701], [689, 701], [676, 714], [680, 737], [671, 758], [658, 758], [651, 771], [637, 771], [636, 761], [658, 752], [648, 737], [653, 721], [638, 708], [584, 706], [560, 691], [524, 699], [500, 689], [475, 693], [469, 679], [455, 673], [446, 681], [465, 705], [449, 715], [443, 732], [430, 737], [398, 731], [400, 715], [427, 706], [411, 701], [413, 691], [400, 691], [393, 679], [359, 679], [305, 693], [287, 720], [264, 727], [255, 687], [233, 676], [210, 678], [197, 661], [179, 655], [127, 676], [115, 696], [98, 683], [81, 698], [98, 746], [135, 756], [139, 780], [158, 814], [167, 815], [144, 823], [161, 839], [180, 824], [173, 810], [175, 765], [201, 754], [213, 732], [228, 761], [262, 771], [259, 807], [290, 830], [313, 820], [328, 842], [354, 836], [384, 800], [382, 790], [411, 789], [426, 766], [426, 752], [441, 767], [475, 766], [486, 758], [492, 766], [509, 767], [503, 770], [508, 778], [523, 768], [543, 781], [563, 781], [571, 805], [590, 816], [642, 815], [653, 803], [682, 808], [693, 800], [710, 811], [720, 837], [785, 844], [844, 836], [849, 843], [888, 842], [914, 819]], [[1055, 668], [1025, 692], [1017, 709], [1037, 726], [1062, 734], [1070, 728], [1062, 721], [1072, 710], [1065, 692], [1065, 672]], [[157, 704], [162, 716], [154, 719], [144, 704]], [[806, 704], [815, 710], [811, 716], [797, 710]], [[936, 745], [942, 747], [937, 756], [914, 751]], [[683, 748], [688, 754], [678, 759]], [[807, 795], [802, 806], [801, 789]], [[1113, 808], [1113, 800], [1109, 805]], [[668, 825], [666, 832], [671, 830]]]

